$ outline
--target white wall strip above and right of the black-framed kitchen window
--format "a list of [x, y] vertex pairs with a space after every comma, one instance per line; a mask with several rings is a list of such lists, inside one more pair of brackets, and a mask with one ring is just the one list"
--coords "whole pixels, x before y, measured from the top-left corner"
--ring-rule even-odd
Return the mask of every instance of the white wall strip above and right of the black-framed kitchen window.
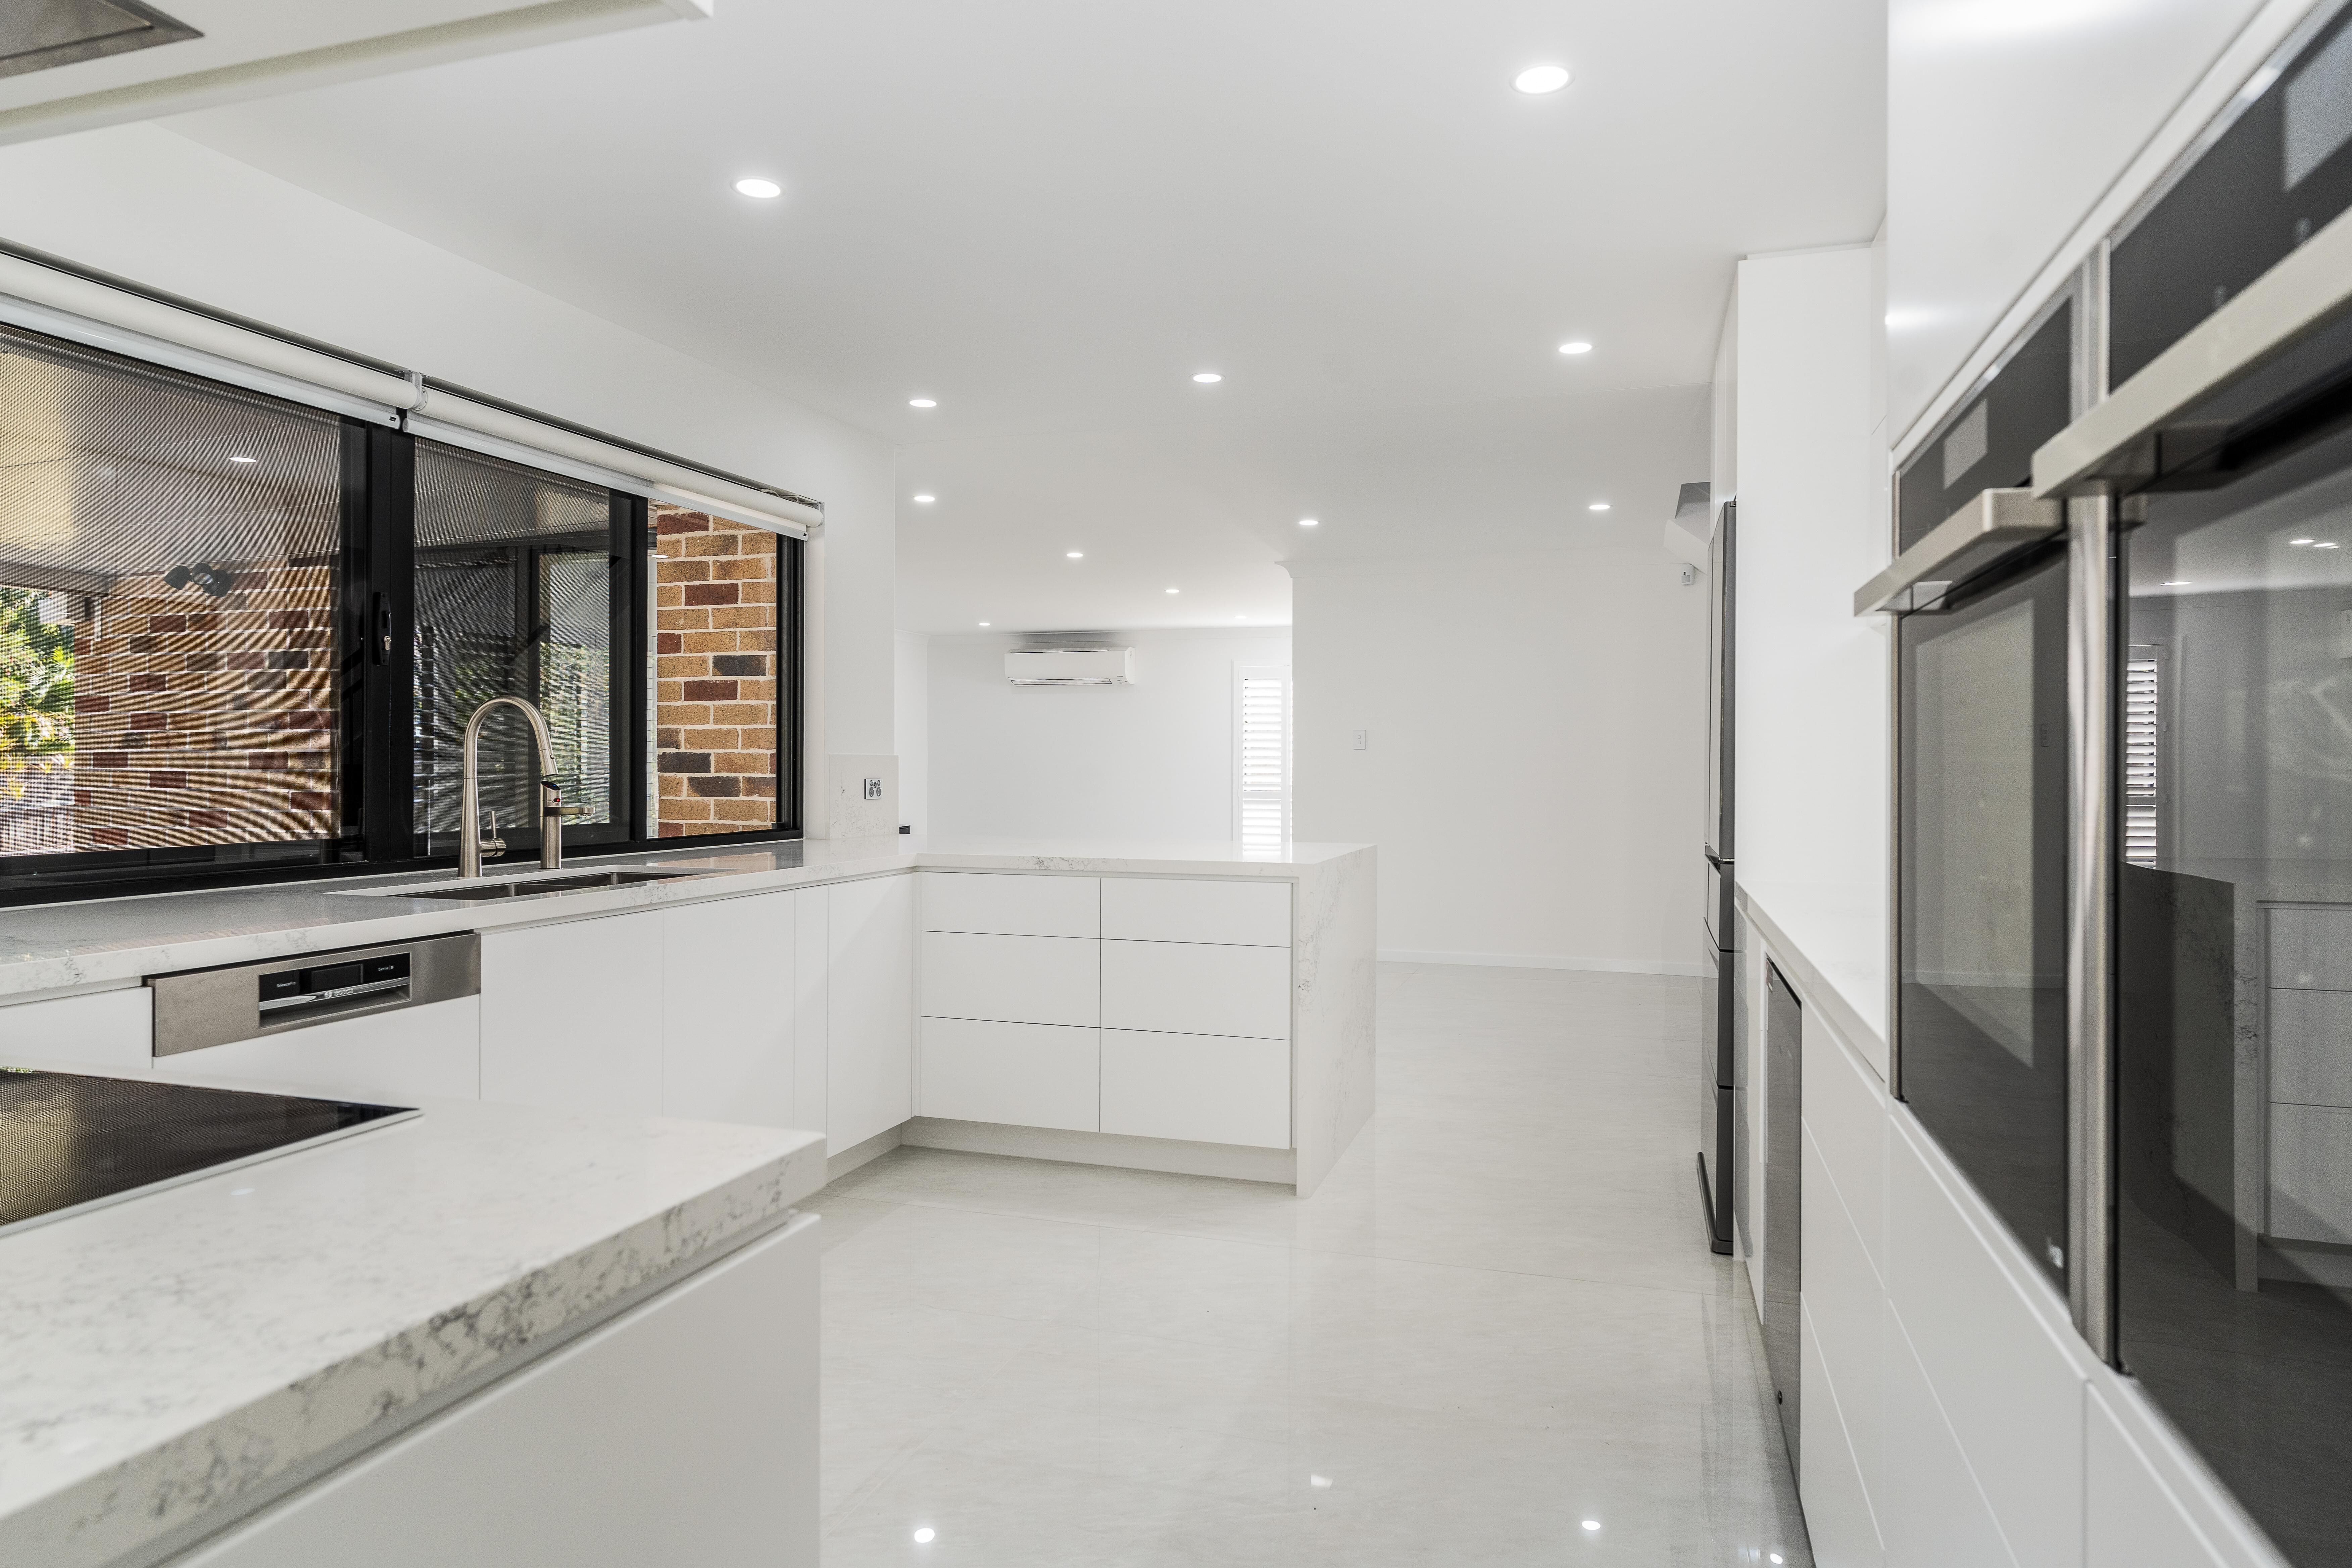
[[0, 148], [0, 212], [19, 244], [816, 496], [811, 757], [891, 750], [882, 440], [155, 125]]

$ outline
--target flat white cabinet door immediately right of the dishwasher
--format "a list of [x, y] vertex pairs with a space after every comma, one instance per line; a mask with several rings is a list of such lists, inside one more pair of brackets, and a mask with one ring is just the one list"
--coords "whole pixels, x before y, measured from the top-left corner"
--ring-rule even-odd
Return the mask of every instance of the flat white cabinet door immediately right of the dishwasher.
[[663, 910], [482, 933], [482, 1098], [661, 1105]]

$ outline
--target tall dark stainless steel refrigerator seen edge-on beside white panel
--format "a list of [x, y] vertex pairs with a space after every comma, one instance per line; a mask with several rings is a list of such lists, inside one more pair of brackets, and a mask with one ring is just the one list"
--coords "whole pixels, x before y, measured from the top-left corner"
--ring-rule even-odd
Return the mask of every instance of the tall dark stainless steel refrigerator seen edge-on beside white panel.
[[[1696, 491], [1696, 496], [1693, 496]], [[1710, 503], [1705, 484], [1684, 484], [1684, 508]], [[1682, 508], [1677, 508], [1682, 510]], [[1700, 914], [1708, 966], [1698, 1011], [1698, 1190], [1708, 1246], [1731, 1251], [1738, 1178], [1738, 922], [1731, 912], [1731, 722], [1733, 722], [1733, 550], [1738, 505], [1726, 501], [1708, 538], [1708, 905]]]

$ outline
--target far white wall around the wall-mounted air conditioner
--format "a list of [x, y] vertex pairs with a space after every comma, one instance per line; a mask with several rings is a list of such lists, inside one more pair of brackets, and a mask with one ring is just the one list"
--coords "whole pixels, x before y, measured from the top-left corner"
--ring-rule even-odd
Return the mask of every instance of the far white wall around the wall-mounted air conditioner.
[[1112, 632], [1134, 686], [1014, 686], [1014, 635], [929, 642], [934, 835], [1230, 842], [1232, 668], [1291, 663], [1289, 628]]

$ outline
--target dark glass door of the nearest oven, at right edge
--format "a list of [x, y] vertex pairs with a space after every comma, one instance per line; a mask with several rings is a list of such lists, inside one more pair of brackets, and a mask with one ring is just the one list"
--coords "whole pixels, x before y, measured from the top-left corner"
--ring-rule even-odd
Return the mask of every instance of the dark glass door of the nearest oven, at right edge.
[[2352, 411], [2319, 381], [2206, 411], [2223, 458], [2143, 498], [2117, 691], [2117, 1352], [2305, 1566], [2352, 1563], [2352, 430], [2310, 440]]

